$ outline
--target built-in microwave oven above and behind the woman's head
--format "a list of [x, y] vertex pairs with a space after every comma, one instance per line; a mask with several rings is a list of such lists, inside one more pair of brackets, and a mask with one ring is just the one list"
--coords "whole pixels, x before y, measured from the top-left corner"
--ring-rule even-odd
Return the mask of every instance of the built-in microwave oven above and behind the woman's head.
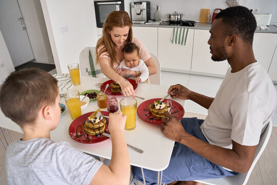
[[124, 0], [94, 0], [97, 28], [103, 28], [107, 16], [112, 11], [124, 10]]

